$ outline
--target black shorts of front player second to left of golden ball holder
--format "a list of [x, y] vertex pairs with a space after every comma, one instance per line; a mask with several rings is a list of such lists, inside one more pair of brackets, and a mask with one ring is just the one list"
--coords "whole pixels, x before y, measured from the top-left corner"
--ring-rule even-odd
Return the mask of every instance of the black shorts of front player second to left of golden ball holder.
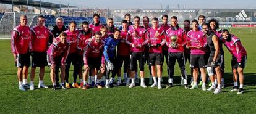
[[144, 71], [144, 52], [130, 52], [130, 70], [137, 69], [137, 60], [139, 60], [140, 71]]

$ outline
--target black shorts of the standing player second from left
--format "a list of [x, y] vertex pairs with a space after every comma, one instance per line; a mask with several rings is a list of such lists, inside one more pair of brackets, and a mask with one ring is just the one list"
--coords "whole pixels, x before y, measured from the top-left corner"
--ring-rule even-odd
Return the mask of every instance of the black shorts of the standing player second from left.
[[45, 67], [48, 66], [47, 53], [32, 51], [32, 67]]

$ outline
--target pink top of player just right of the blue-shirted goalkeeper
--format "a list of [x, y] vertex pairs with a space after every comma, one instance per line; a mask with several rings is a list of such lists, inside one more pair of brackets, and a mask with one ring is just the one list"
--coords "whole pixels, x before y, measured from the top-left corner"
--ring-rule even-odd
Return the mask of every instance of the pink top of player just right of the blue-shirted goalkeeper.
[[126, 36], [128, 31], [121, 31], [120, 42], [117, 46], [117, 55], [129, 56], [130, 55], [130, 46], [126, 43]]

